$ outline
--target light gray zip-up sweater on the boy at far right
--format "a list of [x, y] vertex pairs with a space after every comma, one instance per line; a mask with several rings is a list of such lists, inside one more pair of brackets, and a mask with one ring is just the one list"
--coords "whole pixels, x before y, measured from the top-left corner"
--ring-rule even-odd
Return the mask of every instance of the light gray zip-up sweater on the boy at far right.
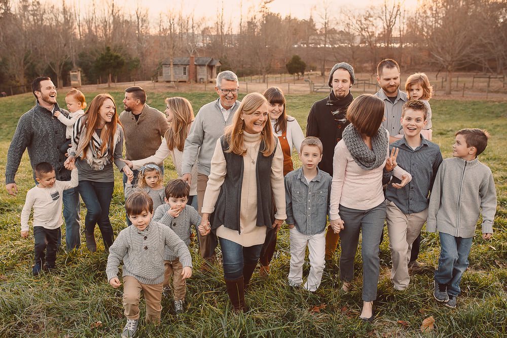
[[455, 237], [474, 236], [482, 211], [482, 232], [493, 233], [496, 190], [490, 168], [479, 159], [446, 158], [429, 197], [426, 230]]

